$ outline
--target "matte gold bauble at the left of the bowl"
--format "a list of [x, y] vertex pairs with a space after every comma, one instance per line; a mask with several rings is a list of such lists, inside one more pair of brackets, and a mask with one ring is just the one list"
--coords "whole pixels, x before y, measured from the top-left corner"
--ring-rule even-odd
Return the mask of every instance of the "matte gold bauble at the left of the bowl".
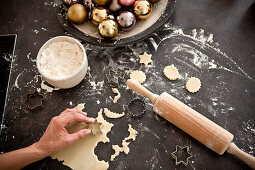
[[68, 20], [74, 24], [84, 23], [87, 17], [87, 8], [81, 4], [74, 4], [67, 11]]

